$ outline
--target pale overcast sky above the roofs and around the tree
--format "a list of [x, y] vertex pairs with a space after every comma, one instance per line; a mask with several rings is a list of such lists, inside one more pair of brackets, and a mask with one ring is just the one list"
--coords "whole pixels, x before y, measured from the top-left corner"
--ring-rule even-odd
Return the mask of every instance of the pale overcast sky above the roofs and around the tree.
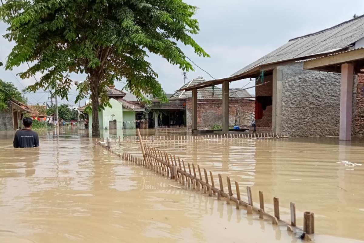
[[[199, 7], [197, 19], [201, 31], [194, 36], [211, 58], [198, 58], [191, 47], [182, 47], [185, 54], [199, 67], [214, 78], [232, 75], [242, 67], [254, 62], [261, 56], [282, 46], [289, 39], [310, 34], [329, 28], [349, 20], [354, 14], [364, 12], [363, 0], [184, 0]], [[2, 36], [6, 25], [0, 23], [0, 58], [5, 61], [13, 43]], [[182, 70], [169, 64], [159, 56], [151, 55], [149, 61], [157, 71], [163, 89], [166, 93], [174, 93], [183, 85]], [[25, 70], [25, 65], [15, 68], [13, 74]], [[10, 71], [0, 68], [0, 79], [13, 82], [19, 89], [31, 85], [34, 78], [22, 80], [15, 78]], [[194, 72], [187, 74], [188, 80], [202, 76], [206, 80], [212, 78], [196, 67]], [[37, 78], [40, 74], [37, 75]], [[71, 76], [75, 80], [84, 77]], [[231, 87], [241, 88], [247, 81], [232, 82]], [[252, 84], [253, 85], [253, 84]], [[247, 86], [249, 87], [249, 85]], [[116, 88], [122, 89], [121, 83]], [[254, 89], [249, 89], [254, 94]], [[39, 91], [43, 92], [43, 91]], [[70, 101], [60, 103], [74, 104], [75, 87], [70, 92]], [[48, 94], [27, 94], [29, 103], [43, 103], [48, 100]], [[81, 104], [84, 105], [84, 104]]]

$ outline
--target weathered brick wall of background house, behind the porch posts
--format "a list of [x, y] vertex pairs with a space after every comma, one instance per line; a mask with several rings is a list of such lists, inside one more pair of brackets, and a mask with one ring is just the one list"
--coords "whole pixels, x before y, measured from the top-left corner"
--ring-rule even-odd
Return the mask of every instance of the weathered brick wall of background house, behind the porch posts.
[[[192, 125], [192, 98], [186, 98], [187, 125]], [[229, 125], [234, 125], [237, 110], [254, 111], [255, 103], [249, 99], [229, 100]], [[197, 101], [197, 125], [222, 124], [222, 100], [199, 99]]]

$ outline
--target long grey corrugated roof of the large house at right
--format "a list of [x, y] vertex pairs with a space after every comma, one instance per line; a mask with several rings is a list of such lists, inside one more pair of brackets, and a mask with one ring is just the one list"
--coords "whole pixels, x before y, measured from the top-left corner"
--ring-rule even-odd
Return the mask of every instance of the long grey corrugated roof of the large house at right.
[[326, 30], [289, 40], [280, 48], [237, 71], [233, 76], [265, 64], [304, 58], [337, 49], [341, 50], [363, 37], [364, 15]]

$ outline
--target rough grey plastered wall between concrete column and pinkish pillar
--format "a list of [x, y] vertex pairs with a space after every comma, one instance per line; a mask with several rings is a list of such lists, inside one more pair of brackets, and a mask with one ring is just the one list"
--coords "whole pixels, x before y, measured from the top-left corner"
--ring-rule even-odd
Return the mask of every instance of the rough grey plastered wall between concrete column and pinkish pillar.
[[282, 68], [282, 132], [290, 136], [339, 136], [340, 74]]

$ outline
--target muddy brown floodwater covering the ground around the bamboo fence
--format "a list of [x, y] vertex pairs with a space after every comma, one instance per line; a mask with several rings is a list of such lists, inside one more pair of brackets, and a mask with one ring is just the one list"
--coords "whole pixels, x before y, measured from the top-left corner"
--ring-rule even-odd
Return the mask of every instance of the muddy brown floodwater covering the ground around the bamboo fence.
[[[301, 242], [285, 227], [246, 215], [224, 200], [176, 188], [173, 180], [112, 156], [88, 131], [40, 133], [40, 148], [14, 149], [0, 132], [0, 242]], [[144, 132], [144, 131], [143, 131]], [[143, 135], [153, 134], [146, 131]], [[104, 137], [134, 135], [104, 131]], [[273, 196], [281, 217], [313, 211], [316, 242], [361, 242], [364, 144], [337, 138], [147, 142], [185, 162], [238, 181], [243, 199]], [[114, 144], [140, 156], [135, 142]], [[351, 166], [351, 167], [350, 167]], [[216, 177], [217, 178], [217, 177]], [[216, 180], [216, 179], [215, 179]], [[215, 182], [216, 183], [216, 182]]]

